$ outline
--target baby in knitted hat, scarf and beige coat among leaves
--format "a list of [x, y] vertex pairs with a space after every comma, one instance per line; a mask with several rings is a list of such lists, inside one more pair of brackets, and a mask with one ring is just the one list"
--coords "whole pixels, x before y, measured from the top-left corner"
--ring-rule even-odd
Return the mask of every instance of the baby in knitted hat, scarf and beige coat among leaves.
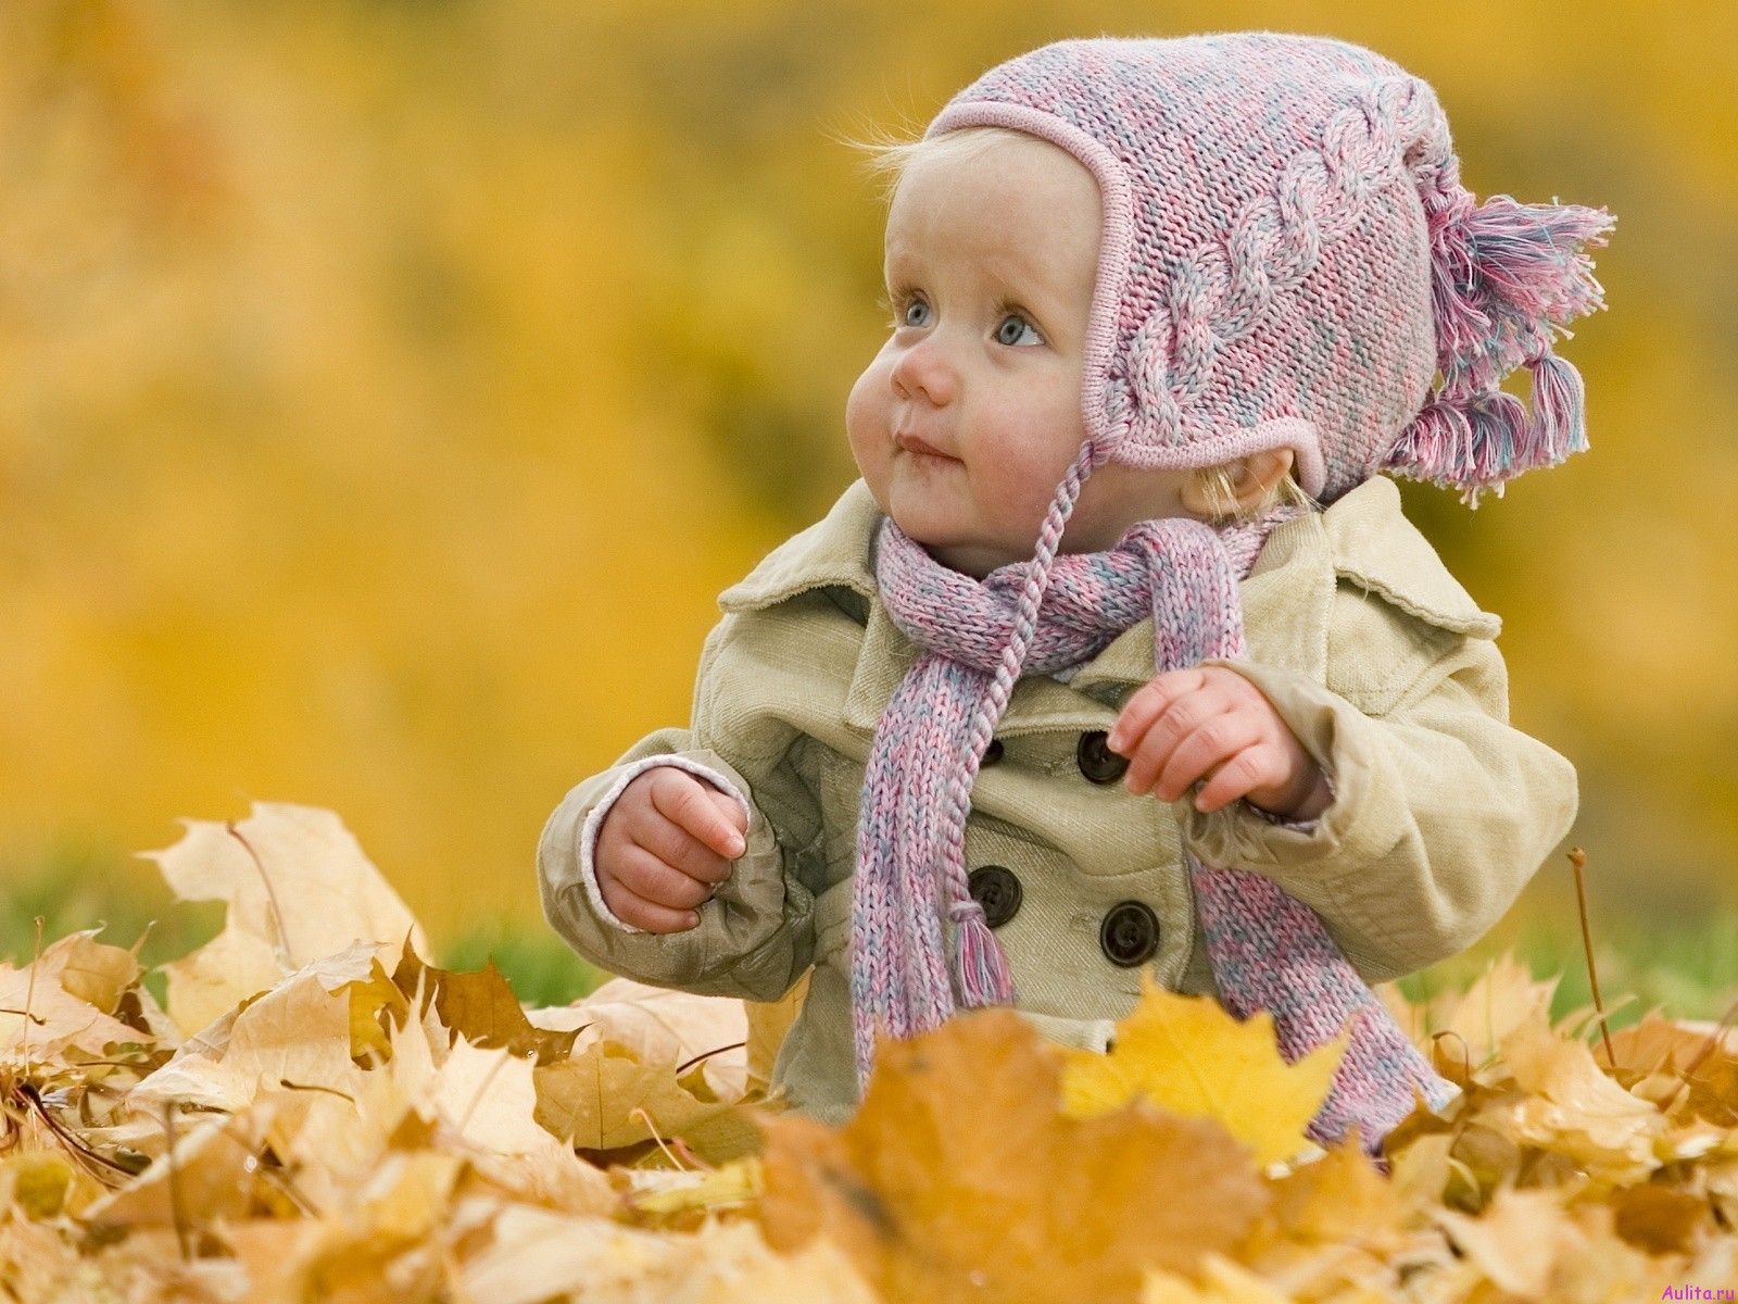
[[[607, 970], [876, 1035], [1013, 1005], [1105, 1048], [1140, 974], [1350, 1029], [1312, 1123], [1451, 1092], [1368, 984], [1477, 939], [1576, 808], [1383, 471], [1470, 502], [1585, 447], [1554, 330], [1602, 209], [1477, 203], [1430, 87], [1330, 38], [1065, 40], [883, 151], [862, 478], [720, 596], [688, 729], [544, 828]], [[1533, 409], [1498, 386], [1517, 365]]]

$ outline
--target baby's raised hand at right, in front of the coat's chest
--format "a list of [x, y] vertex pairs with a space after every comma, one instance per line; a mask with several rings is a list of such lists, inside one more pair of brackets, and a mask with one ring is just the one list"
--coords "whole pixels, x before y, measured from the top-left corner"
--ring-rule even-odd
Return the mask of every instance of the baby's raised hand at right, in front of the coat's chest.
[[1333, 793], [1262, 690], [1224, 666], [1191, 666], [1138, 689], [1105, 746], [1128, 756], [1123, 784], [1177, 802], [1197, 779], [1196, 810], [1239, 796], [1284, 819], [1316, 819]]

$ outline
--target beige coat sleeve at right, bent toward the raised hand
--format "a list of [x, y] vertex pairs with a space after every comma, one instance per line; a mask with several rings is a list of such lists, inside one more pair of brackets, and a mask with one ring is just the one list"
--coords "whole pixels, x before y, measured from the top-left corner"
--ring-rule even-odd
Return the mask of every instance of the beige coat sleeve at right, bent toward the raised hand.
[[1196, 855], [1272, 878], [1323, 916], [1364, 981], [1382, 982], [1484, 935], [1569, 831], [1578, 796], [1569, 762], [1509, 725], [1507, 668], [1489, 638], [1350, 602], [1363, 664], [1392, 668], [1342, 682], [1356, 702], [1295, 669], [1208, 662], [1274, 704], [1323, 765], [1330, 807], [1309, 822], [1264, 819], [1246, 802], [1201, 814], [1185, 798], [1177, 810]]

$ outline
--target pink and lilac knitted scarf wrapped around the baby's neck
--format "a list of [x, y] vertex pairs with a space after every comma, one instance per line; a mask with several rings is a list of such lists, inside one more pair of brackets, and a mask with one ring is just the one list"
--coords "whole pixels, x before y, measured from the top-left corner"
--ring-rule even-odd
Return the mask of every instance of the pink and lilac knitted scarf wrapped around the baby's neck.
[[[1196, 520], [1149, 520], [1107, 551], [1057, 555], [1020, 673], [1078, 666], [1147, 615], [1154, 673], [1243, 655], [1237, 581], [1284, 515], [1224, 536]], [[876, 536], [881, 600], [923, 654], [881, 716], [864, 774], [852, 897], [860, 1085], [874, 1062], [878, 1024], [905, 1038], [940, 1026], [956, 1007], [1015, 1003], [1006, 961], [966, 888], [965, 822], [987, 742], [972, 746], [972, 723], [984, 715], [1032, 567], [1012, 563], [977, 581], [935, 562], [890, 518]], [[999, 716], [999, 706], [992, 715]], [[1258, 873], [1206, 866], [1187, 848], [1184, 861], [1213, 977], [1234, 1015], [1270, 1010], [1286, 1061], [1352, 1026], [1333, 1087], [1310, 1123], [1312, 1139], [1330, 1144], [1356, 1125], [1375, 1149], [1413, 1109], [1415, 1087], [1430, 1104], [1446, 1102], [1453, 1088], [1310, 908]], [[956, 925], [952, 975], [944, 909]]]

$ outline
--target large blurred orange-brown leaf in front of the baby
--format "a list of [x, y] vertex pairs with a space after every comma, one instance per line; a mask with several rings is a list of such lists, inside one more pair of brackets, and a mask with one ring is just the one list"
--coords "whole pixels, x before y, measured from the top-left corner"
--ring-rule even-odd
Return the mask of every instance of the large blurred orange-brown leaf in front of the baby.
[[1229, 1250], [1265, 1207], [1218, 1123], [1144, 1102], [1067, 1118], [1060, 1078], [1012, 1010], [883, 1040], [843, 1128], [765, 1120], [768, 1241], [826, 1234], [888, 1299], [1135, 1301], [1147, 1266]]

